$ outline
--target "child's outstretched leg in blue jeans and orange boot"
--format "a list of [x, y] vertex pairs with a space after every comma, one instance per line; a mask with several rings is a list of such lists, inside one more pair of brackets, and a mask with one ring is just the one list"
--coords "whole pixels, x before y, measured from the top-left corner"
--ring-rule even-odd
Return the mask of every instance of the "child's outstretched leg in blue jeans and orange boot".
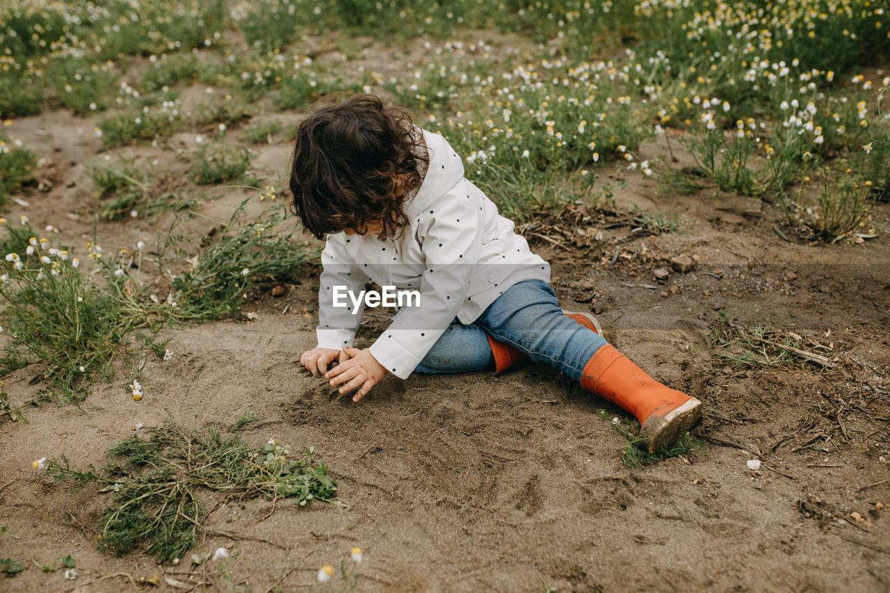
[[661, 385], [603, 337], [566, 317], [546, 282], [515, 284], [477, 322], [499, 342], [550, 363], [634, 414], [650, 452], [674, 443], [700, 417], [701, 402]]

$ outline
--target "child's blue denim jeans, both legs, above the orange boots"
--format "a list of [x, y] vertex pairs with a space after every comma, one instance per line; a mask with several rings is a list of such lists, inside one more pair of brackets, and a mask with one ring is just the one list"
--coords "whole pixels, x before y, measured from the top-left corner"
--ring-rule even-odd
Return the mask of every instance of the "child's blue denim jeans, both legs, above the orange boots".
[[421, 373], [493, 370], [488, 338], [513, 345], [532, 361], [546, 362], [579, 381], [587, 361], [607, 342], [562, 313], [554, 289], [541, 280], [517, 282], [473, 324], [451, 322], [423, 361]]

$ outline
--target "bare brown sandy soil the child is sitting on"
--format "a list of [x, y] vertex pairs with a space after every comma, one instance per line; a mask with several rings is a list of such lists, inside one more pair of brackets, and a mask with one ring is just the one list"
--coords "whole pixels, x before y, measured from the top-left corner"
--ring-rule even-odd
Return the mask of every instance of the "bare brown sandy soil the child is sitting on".
[[[42, 171], [53, 187], [23, 194], [28, 207], [7, 204], [8, 219], [27, 214], [77, 245], [92, 239], [99, 199], [85, 167], [101, 158], [93, 126], [61, 110], [15, 122], [16, 136], [52, 160]], [[287, 167], [281, 136], [255, 158], [255, 173], [270, 182]], [[193, 134], [169, 145], [193, 149]], [[672, 148], [682, 164], [676, 142]], [[163, 147], [122, 151], [166, 159], [171, 171], [179, 162]], [[662, 137], [638, 154], [667, 155], [667, 145]], [[145, 363], [140, 402], [118, 374], [79, 406], [29, 407], [27, 422], [4, 420], [0, 524], [8, 533], [0, 534], [0, 557], [28, 568], [0, 577], [0, 589], [118, 591], [134, 588], [130, 577], [152, 575], [161, 589], [173, 590], [165, 576], [225, 589], [217, 563], [183, 574], [187, 562], [101, 554], [96, 538], [110, 495], [94, 486], [71, 492], [31, 462], [64, 453], [74, 467], [101, 467], [109, 444], [133, 435], [138, 422], [142, 434], [166, 418], [227, 430], [247, 411], [263, 418], [242, 430], [249, 443], [315, 446], [349, 507], [279, 501], [270, 513], [268, 500], [207, 493], [205, 526], [237, 537], [206, 534], [191, 552], [237, 550], [228, 574], [241, 589], [302, 589], [321, 565], [349, 562], [353, 546], [364, 549], [359, 590], [368, 591], [890, 589], [890, 206], [873, 212], [877, 239], [824, 246], [788, 227], [789, 240], [781, 239], [773, 231], [781, 211], [759, 199], [667, 194], [637, 173], [612, 176], [627, 177], [619, 212], [635, 204], [678, 215], [683, 232], [634, 231], [628, 215], [609, 214], [584, 223], [583, 235], [557, 223], [533, 248], [553, 264], [566, 309], [596, 313], [619, 350], [704, 402], [699, 450], [625, 467], [625, 439], [598, 410], [626, 424], [627, 413], [539, 364], [497, 377], [387, 378], [352, 403], [298, 364], [315, 345], [318, 280], [310, 271], [283, 296], [271, 296], [272, 285], [253, 291], [244, 311], [257, 313], [255, 321], [165, 329], [173, 357]], [[220, 192], [202, 212], [223, 218], [246, 195]], [[101, 222], [98, 235], [108, 247], [131, 247], [165, 224], [165, 215]], [[191, 224], [196, 235], [214, 227]], [[670, 263], [681, 254], [692, 259], [689, 272]], [[726, 361], [711, 338], [718, 312], [793, 333], [801, 349], [834, 366]], [[359, 345], [384, 323], [369, 317]], [[31, 384], [37, 372], [4, 378], [13, 403], [41, 388]], [[748, 459], [761, 459], [760, 470], [749, 470]], [[31, 560], [68, 554], [77, 559], [74, 581]]]

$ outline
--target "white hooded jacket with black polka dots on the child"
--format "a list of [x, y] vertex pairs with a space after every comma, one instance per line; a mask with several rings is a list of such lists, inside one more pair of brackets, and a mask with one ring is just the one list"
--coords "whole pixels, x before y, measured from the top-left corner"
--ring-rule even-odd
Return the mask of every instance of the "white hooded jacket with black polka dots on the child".
[[[319, 348], [352, 346], [365, 307], [335, 290], [359, 295], [371, 280], [419, 291], [396, 313], [370, 353], [399, 378], [411, 371], [455, 318], [473, 323], [520, 280], [550, 281], [550, 266], [514, 233], [513, 221], [464, 177], [457, 152], [423, 130], [430, 163], [407, 211], [410, 228], [392, 240], [376, 235], [328, 235], [321, 254]], [[419, 302], [417, 302], [419, 301]]]

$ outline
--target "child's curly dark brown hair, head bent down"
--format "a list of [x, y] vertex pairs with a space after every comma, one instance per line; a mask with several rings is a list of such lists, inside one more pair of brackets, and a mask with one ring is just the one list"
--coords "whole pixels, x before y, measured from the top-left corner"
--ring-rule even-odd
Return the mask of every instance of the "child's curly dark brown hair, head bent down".
[[[336, 101], [336, 99], [335, 99]], [[355, 94], [313, 107], [296, 129], [290, 189], [317, 239], [380, 223], [382, 240], [409, 226], [405, 201], [423, 183], [429, 156], [407, 111]]]

